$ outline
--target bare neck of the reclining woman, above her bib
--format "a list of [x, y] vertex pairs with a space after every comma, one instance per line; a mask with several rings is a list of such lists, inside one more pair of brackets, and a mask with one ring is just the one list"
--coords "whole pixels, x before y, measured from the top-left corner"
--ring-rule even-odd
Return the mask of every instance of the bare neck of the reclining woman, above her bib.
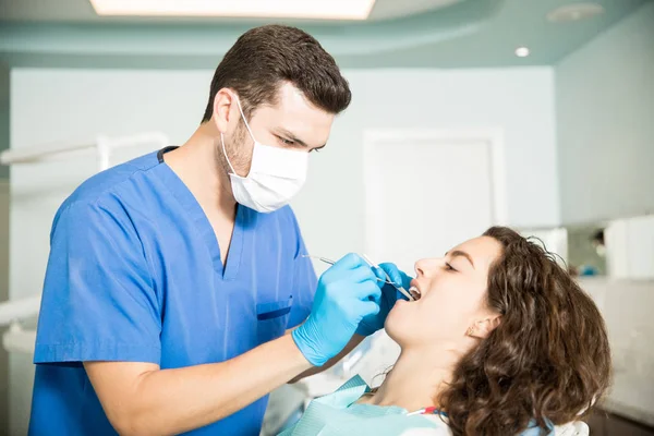
[[392, 371], [367, 402], [397, 405], [410, 412], [432, 405], [439, 408], [438, 396], [451, 380], [464, 351], [446, 343], [428, 349], [402, 349]]

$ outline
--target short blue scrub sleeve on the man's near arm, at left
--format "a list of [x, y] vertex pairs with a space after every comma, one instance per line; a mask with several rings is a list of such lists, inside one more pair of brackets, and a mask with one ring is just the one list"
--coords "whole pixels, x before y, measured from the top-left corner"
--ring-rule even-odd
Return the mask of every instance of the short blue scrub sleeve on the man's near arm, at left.
[[56, 217], [35, 363], [160, 362], [161, 314], [142, 242], [117, 198]]

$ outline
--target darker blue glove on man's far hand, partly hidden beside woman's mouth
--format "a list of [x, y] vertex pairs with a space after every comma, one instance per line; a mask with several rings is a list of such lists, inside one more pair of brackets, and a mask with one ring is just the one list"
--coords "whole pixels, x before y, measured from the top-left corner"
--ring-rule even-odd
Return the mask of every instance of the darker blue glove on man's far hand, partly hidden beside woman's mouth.
[[[395, 264], [382, 264], [379, 265], [379, 268], [375, 268], [374, 270], [378, 278], [386, 280], [386, 275], [384, 274], [386, 272], [388, 277], [390, 277], [390, 281], [401, 286], [405, 290], [409, 290], [411, 277], [400, 271]], [[384, 324], [386, 323], [386, 317], [388, 316], [388, 313], [395, 305], [396, 301], [398, 301], [398, 299], [407, 300], [407, 298], [402, 295], [402, 293], [392, 284], [384, 283], [383, 281], [377, 281], [377, 283], [382, 287], [379, 312], [377, 314], [371, 314], [361, 320], [359, 328], [356, 329], [356, 334], [362, 336], [371, 336], [377, 330], [383, 329]]]

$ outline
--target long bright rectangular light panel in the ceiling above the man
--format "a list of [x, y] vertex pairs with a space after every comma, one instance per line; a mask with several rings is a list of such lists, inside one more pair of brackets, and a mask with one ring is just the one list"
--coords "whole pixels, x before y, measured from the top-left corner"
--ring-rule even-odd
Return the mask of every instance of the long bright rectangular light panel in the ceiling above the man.
[[98, 15], [365, 20], [375, 0], [90, 0]]

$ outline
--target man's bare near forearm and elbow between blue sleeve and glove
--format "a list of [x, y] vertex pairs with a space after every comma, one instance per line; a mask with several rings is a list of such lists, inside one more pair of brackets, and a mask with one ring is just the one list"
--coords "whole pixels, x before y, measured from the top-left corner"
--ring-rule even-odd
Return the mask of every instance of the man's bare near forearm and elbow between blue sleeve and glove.
[[120, 434], [173, 435], [219, 421], [312, 367], [286, 335], [227, 362], [175, 370], [133, 362], [84, 364]]

